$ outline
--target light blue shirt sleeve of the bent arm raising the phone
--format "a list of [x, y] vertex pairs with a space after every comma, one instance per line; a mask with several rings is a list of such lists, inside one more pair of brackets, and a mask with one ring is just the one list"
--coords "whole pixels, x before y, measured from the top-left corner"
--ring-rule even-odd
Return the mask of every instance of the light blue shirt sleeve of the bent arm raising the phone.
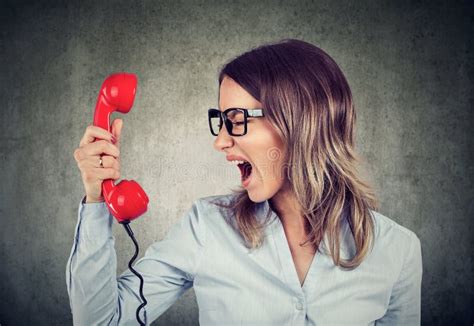
[[[66, 265], [74, 325], [137, 325], [140, 280], [130, 269], [116, 277], [113, 221], [105, 202], [79, 204]], [[143, 295], [148, 303], [140, 310], [140, 318], [147, 325], [193, 285], [204, 241], [205, 228], [195, 202], [165, 238], [152, 244], [133, 265], [144, 280]]]

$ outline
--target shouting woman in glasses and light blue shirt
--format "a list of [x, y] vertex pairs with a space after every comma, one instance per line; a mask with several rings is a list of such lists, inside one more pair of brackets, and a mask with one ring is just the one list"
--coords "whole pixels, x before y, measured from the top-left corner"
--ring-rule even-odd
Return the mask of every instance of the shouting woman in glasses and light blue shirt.
[[[142, 319], [193, 286], [204, 325], [419, 325], [420, 241], [375, 211], [356, 171], [355, 117], [343, 73], [314, 45], [284, 40], [226, 64], [209, 126], [242, 186], [196, 200], [137, 261]], [[121, 126], [88, 127], [74, 155], [86, 196], [66, 273], [79, 324], [136, 324], [139, 280], [115, 278], [100, 193], [119, 178]]]

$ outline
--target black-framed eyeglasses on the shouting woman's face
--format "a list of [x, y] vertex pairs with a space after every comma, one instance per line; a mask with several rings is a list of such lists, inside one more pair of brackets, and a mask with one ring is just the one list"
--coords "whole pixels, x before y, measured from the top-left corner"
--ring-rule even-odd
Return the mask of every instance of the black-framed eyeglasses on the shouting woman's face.
[[224, 112], [210, 108], [207, 111], [211, 134], [217, 136], [224, 121], [227, 132], [231, 136], [243, 136], [247, 133], [247, 118], [263, 117], [263, 109], [229, 108]]

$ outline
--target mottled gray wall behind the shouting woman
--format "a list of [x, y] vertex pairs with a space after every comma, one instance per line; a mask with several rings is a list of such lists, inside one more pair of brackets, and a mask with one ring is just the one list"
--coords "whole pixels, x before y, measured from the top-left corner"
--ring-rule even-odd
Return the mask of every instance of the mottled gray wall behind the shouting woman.
[[[0, 323], [65, 325], [65, 264], [83, 196], [73, 158], [111, 72], [139, 76], [122, 176], [147, 191], [144, 250], [195, 198], [228, 193], [206, 110], [229, 58], [286, 37], [339, 63], [380, 212], [423, 250], [422, 321], [471, 325], [472, 4], [460, 1], [2, 1]], [[214, 169], [216, 172], [213, 173]], [[133, 245], [115, 225], [118, 272]], [[197, 324], [193, 290], [155, 324]]]

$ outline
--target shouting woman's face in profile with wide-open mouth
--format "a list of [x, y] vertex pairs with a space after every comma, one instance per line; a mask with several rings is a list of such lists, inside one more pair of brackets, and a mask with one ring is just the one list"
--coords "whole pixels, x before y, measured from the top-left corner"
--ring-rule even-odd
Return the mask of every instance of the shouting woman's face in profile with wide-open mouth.
[[[219, 110], [228, 108], [258, 109], [262, 104], [225, 76], [219, 89]], [[284, 185], [284, 146], [279, 133], [265, 117], [249, 117], [247, 133], [243, 136], [230, 136], [222, 126], [214, 141], [214, 148], [224, 152], [228, 160], [245, 160], [251, 164], [251, 174], [242, 185], [253, 202], [272, 198]], [[244, 168], [240, 169], [242, 175]]]

